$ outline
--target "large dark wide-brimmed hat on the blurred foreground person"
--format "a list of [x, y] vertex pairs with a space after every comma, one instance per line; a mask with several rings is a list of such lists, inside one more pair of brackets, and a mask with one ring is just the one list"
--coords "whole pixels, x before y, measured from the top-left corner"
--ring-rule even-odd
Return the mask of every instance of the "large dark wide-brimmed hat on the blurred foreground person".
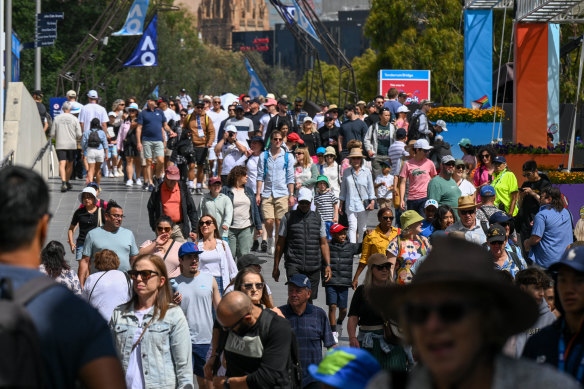
[[[539, 317], [533, 297], [494, 269], [488, 251], [464, 239], [452, 237], [435, 239], [432, 251], [410, 284], [372, 286], [366, 298], [383, 317], [397, 319], [413, 291], [440, 285], [453, 287], [465, 297], [472, 297], [476, 290], [492, 295], [492, 309], [500, 310], [505, 318], [502, 328], [497, 329], [505, 337], [530, 328]], [[484, 307], [478, 309], [483, 310]]]

